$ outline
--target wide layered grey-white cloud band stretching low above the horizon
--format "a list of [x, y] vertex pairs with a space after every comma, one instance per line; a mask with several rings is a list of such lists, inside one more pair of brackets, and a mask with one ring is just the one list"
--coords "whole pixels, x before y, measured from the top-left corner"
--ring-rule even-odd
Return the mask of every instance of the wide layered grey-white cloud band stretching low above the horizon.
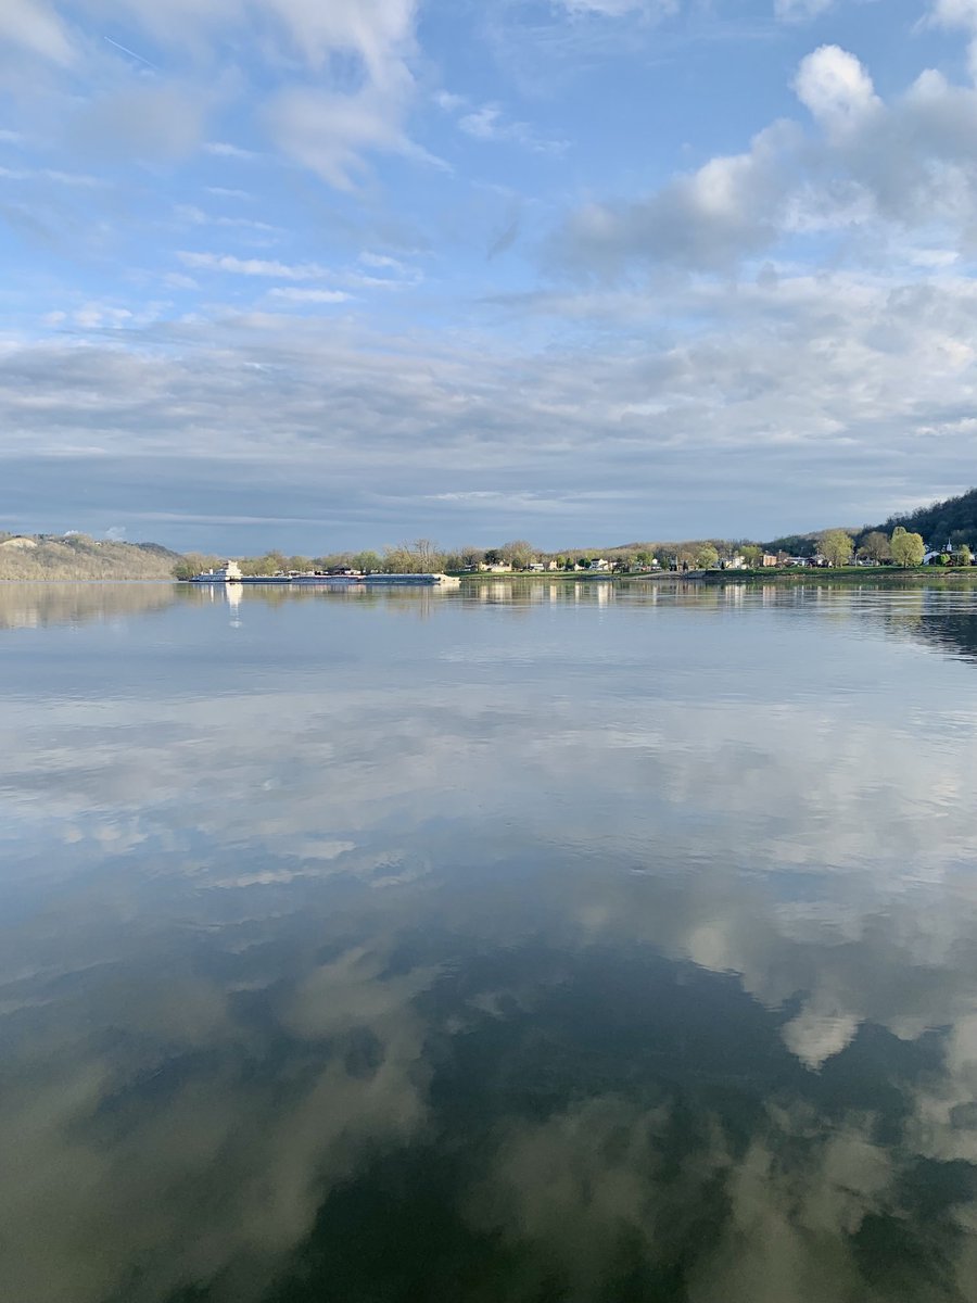
[[[206, 266], [268, 289], [358, 288], [343, 272], [327, 280], [319, 265], [224, 257]], [[565, 302], [541, 304], [559, 317], [560, 345], [545, 318], [533, 328], [531, 304], [513, 308], [529, 328], [502, 347], [470, 330], [427, 337], [413, 322], [408, 339], [345, 313], [289, 318], [281, 296], [270, 297], [279, 310], [267, 317], [215, 310], [214, 321], [182, 323], [180, 358], [162, 326], [129, 326], [126, 347], [112, 349], [55, 336], [0, 357], [4, 452], [34, 459], [38, 448], [95, 442], [108, 500], [107, 461], [122, 468], [158, 452], [177, 465], [227, 450], [236, 469], [211, 504], [221, 513], [249, 513], [248, 468], [272, 459], [290, 503], [327, 491], [343, 470], [369, 482], [362, 511], [382, 532], [382, 503], [396, 502], [406, 520], [429, 519], [429, 508], [431, 520], [474, 511], [502, 528], [504, 519], [513, 537], [525, 508], [507, 499], [517, 494], [530, 495], [534, 515], [545, 504], [551, 530], [565, 523], [601, 538], [608, 520], [625, 537], [632, 528], [641, 537], [649, 520], [657, 533], [666, 520], [687, 534], [752, 532], [770, 521], [784, 478], [797, 494], [783, 528], [882, 520], [894, 500], [968, 482], [969, 443], [956, 430], [977, 404], [977, 289], [965, 276], [926, 285], [780, 266], [735, 292], [702, 281], [612, 300], [590, 310], [597, 340], [586, 331], [576, 343]], [[581, 317], [588, 304], [569, 309]], [[539, 345], [526, 348], [533, 335]], [[309, 450], [326, 447], [327, 461], [310, 463]], [[82, 485], [73, 473], [76, 495]], [[481, 508], [438, 496], [488, 490], [499, 496]], [[431, 532], [456, 530], [468, 525]]]

